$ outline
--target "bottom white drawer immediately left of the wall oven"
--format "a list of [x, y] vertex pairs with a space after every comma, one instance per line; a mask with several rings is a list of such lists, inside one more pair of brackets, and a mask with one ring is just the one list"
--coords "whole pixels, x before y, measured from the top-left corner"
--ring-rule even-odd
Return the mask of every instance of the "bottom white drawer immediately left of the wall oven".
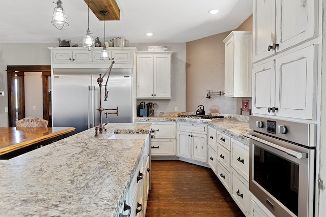
[[249, 216], [250, 191], [249, 183], [244, 180], [235, 170], [231, 170], [232, 191], [231, 196], [238, 204], [242, 212]]

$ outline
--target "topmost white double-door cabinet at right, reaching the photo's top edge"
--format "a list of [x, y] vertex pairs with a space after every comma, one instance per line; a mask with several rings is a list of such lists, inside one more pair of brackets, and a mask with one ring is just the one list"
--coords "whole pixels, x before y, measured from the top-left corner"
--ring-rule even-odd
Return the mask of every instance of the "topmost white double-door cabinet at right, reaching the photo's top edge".
[[318, 0], [254, 0], [253, 63], [318, 36]]

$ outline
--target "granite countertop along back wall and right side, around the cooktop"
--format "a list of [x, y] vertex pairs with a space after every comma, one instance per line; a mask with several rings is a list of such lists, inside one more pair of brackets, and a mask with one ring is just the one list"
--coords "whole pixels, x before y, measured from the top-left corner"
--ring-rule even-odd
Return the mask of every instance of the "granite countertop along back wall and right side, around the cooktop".
[[249, 117], [237, 114], [216, 114], [224, 116], [219, 119], [195, 119], [183, 118], [174, 116], [154, 116], [154, 117], [135, 117], [135, 121], [179, 121], [189, 123], [206, 123], [208, 126], [219, 130], [246, 145], [249, 145], [249, 138], [243, 136], [244, 133], [249, 133]]

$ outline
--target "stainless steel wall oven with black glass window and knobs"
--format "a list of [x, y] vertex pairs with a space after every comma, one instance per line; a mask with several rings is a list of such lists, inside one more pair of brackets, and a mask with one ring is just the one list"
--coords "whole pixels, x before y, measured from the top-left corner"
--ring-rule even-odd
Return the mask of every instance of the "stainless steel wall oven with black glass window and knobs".
[[316, 125], [250, 116], [249, 190], [275, 216], [313, 216]]

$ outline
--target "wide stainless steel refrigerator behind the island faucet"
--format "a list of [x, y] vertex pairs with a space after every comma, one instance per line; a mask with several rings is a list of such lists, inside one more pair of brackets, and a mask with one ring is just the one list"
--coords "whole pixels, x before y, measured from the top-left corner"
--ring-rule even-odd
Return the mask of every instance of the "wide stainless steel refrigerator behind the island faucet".
[[[99, 85], [97, 78], [106, 69], [53, 69], [52, 126], [74, 127], [73, 134], [99, 125]], [[119, 114], [102, 112], [102, 122], [132, 122], [131, 69], [112, 69], [107, 82], [108, 98], [104, 101], [102, 82], [102, 108], [119, 108]], [[114, 112], [114, 111], [107, 111]], [[95, 133], [95, 132], [94, 132]]]

